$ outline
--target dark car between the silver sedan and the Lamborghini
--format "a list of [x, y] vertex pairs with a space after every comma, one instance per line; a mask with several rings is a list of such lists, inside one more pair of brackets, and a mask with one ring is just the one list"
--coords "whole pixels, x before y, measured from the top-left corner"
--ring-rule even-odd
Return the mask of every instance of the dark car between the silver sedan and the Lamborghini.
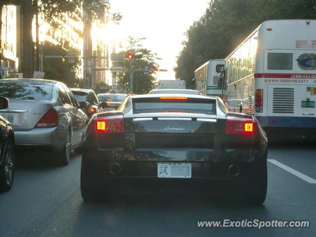
[[99, 113], [102, 110], [98, 97], [93, 90], [79, 88], [71, 88], [70, 90], [79, 103], [89, 103], [89, 107], [83, 109], [83, 112], [88, 116], [88, 118], [91, 118], [93, 114]]

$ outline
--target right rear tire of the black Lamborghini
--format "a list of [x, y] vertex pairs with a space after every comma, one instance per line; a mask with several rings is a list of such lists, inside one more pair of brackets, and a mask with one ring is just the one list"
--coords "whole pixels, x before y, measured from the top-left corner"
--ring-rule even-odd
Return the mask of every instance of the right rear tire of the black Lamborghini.
[[257, 176], [257, 179], [252, 183], [252, 187], [249, 190], [249, 201], [253, 205], [259, 206], [264, 203], [267, 196], [268, 186], [268, 172], [267, 162], [262, 165], [262, 172]]

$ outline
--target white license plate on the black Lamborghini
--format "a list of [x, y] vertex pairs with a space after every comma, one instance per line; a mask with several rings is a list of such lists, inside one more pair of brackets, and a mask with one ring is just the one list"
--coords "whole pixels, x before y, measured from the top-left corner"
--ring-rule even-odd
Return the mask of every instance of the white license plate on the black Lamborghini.
[[158, 163], [158, 178], [191, 178], [191, 163]]

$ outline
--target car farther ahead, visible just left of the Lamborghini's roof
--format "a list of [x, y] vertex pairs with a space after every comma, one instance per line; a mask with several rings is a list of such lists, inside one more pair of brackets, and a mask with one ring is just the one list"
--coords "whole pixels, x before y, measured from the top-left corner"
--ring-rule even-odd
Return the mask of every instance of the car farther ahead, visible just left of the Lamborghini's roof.
[[105, 111], [117, 110], [126, 97], [126, 94], [111, 93], [111, 91], [110, 93], [98, 94], [98, 99]]

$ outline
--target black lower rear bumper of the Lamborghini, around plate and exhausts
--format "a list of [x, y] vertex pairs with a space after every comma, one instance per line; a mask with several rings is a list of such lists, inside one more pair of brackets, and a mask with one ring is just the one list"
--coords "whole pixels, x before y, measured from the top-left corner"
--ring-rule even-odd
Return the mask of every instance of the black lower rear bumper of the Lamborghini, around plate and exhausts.
[[[87, 157], [83, 154], [81, 172], [85, 173], [87, 185], [104, 193], [188, 193], [221, 194], [238, 193], [249, 187], [260, 176], [265, 162], [227, 162], [186, 160], [192, 165], [191, 178], [158, 178], [158, 162], [184, 162], [183, 159], [125, 160], [122, 157]], [[120, 172], [113, 174], [110, 166], [117, 163]], [[240, 171], [237, 176], [228, 172], [231, 164]], [[81, 180], [82, 181], [82, 180]]]

